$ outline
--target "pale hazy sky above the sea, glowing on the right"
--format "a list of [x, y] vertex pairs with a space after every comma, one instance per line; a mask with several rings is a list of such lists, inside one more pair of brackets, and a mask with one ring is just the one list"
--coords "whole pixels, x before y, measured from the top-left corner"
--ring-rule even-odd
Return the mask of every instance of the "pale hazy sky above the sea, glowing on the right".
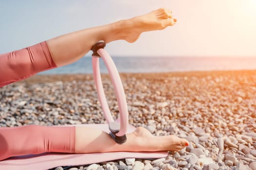
[[172, 11], [176, 25], [106, 50], [120, 57], [256, 57], [256, 0], [0, 0], [0, 53], [160, 7]]

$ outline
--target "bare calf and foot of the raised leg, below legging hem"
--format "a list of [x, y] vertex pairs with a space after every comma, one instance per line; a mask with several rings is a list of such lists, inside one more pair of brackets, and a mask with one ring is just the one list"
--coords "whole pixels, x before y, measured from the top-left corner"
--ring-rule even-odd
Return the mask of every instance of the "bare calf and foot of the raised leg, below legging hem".
[[142, 32], [161, 30], [175, 23], [171, 11], [161, 8], [143, 16], [64, 34], [48, 40], [47, 44], [59, 67], [84, 56], [99, 40], [106, 43], [119, 39], [134, 42]]

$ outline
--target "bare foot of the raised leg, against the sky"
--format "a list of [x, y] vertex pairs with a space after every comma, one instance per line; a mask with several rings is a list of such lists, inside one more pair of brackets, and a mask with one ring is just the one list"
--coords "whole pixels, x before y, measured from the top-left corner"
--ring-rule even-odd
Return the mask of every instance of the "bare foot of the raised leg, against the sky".
[[135, 42], [142, 32], [162, 30], [167, 26], [172, 26], [177, 19], [172, 17], [172, 12], [166, 8], [160, 8], [148, 14], [121, 20], [118, 34], [120, 39], [127, 42]]

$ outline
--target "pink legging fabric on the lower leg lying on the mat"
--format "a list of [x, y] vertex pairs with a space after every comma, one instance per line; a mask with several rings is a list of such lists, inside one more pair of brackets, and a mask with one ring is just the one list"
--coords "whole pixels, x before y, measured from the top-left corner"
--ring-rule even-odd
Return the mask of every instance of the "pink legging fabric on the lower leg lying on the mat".
[[0, 128], [0, 160], [39, 153], [75, 153], [75, 126]]

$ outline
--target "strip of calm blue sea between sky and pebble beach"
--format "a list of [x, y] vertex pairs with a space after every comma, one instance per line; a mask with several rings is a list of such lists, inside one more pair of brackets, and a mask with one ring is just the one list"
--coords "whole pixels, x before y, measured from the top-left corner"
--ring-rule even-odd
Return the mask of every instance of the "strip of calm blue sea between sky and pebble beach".
[[[112, 57], [118, 72], [149, 73], [203, 70], [256, 69], [256, 57]], [[107, 69], [99, 60], [100, 71]], [[68, 66], [41, 72], [40, 74], [93, 73], [92, 58], [83, 57]]]

